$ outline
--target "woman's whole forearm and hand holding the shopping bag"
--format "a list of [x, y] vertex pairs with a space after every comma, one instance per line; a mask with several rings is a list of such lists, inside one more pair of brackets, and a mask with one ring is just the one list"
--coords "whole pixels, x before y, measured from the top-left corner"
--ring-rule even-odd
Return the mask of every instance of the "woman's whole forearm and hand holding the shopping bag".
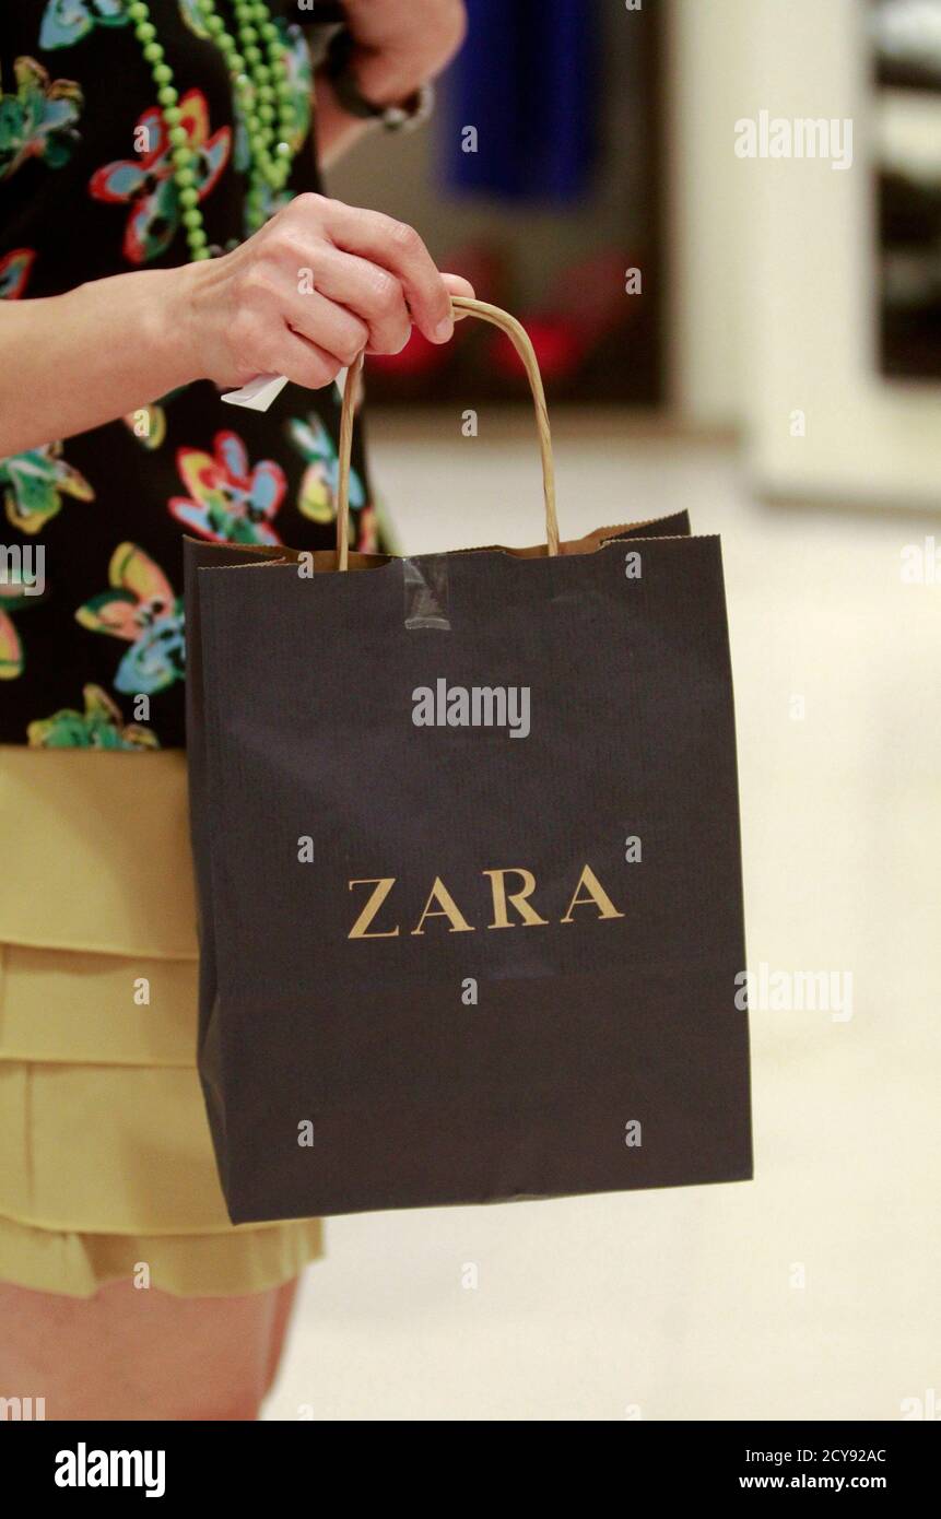
[[451, 293], [473, 290], [438, 273], [410, 226], [303, 194], [222, 258], [0, 301], [0, 459], [193, 380], [318, 389], [363, 348], [398, 352], [412, 324], [444, 343]]

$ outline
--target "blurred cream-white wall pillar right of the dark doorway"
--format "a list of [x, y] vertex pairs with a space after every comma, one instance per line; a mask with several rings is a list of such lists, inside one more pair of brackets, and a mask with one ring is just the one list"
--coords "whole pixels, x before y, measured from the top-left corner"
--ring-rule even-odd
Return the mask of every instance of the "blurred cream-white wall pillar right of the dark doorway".
[[[745, 424], [766, 494], [936, 509], [941, 387], [877, 371], [865, 14], [672, 0], [676, 396]], [[853, 167], [737, 158], [734, 123], [762, 109], [851, 117]]]

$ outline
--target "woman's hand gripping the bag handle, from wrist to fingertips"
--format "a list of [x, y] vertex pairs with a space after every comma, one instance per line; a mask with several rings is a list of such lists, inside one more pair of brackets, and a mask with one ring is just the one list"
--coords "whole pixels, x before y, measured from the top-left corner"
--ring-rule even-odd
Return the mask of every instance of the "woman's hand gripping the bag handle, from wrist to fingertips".
[[231, 254], [179, 273], [193, 378], [222, 386], [283, 374], [319, 389], [363, 349], [397, 354], [412, 324], [445, 343], [450, 296], [474, 293], [438, 272], [412, 226], [321, 194], [298, 196]]

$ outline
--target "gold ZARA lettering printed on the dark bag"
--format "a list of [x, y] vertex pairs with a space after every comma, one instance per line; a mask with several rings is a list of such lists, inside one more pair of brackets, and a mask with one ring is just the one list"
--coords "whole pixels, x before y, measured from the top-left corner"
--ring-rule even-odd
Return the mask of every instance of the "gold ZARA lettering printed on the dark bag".
[[[529, 901], [535, 892], [535, 876], [532, 870], [524, 870], [518, 866], [508, 867], [505, 870], [482, 870], [482, 875], [490, 876], [490, 896], [493, 898], [493, 922], [486, 924], [486, 928], [524, 928], [543, 927], [549, 922], [547, 917], [540, 917], [534, 904]], [[517, 890], [509, 890], [506, 878], [517, 876]], [[347, 934], [348, 939], [395, 939], [400, 933], [400, 925], [379, 927], [375, 921], [379, 917], [380, 908], [389, 898], [394, 886], [394, 875], [369, 876], [359, 881], [350, 881], [350, 890], [354, 886], [371, 886], [372, 892], [369, 898], [353, 924], [353, 928]], [[435, 905], [436, 904], [436, 905]], [[518, 916], [511, 917], [511, 907]], [[597, 880], [594, 870], [590, 864], [582, 867], [575, 892], [572, 893], [572, 901], [566, 908], [566, 916], [559, 917], [561, 924], [573, 924], [573, 910], [576, 907], [594, 907], [597, 919], [602, 917], [623, 917], [614, 907], [614, 902], [605, 892], [604, 886]], [[385, 914], [383, 914], [385, 917]], [[455, 898], [448, 892], [447, 886], [439, 875], [435, 876], [432, 883], [432, 890], [429, 892], [427, 901], [421, 910], [421, 917], [415, 924], [415, 928], [409, 930], [412, 934], [424, 934], [424, 924], [429, 917], [447, 917], [451, 934], [473, 934], [476, 933], [476, 925], [468, 924], [467, 917], [458, 907]], [[375, 925], [375, 927], [374, 927]]]

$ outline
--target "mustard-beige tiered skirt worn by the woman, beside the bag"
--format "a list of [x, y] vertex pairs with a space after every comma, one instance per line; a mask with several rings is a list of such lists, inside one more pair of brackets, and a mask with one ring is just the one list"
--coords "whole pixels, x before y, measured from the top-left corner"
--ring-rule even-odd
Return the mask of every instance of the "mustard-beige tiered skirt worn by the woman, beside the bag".
[[179, 750], [0, 746], [0, 1281], [277, 1287], [319, 1220], [233, 1226], [196, 1051]]

